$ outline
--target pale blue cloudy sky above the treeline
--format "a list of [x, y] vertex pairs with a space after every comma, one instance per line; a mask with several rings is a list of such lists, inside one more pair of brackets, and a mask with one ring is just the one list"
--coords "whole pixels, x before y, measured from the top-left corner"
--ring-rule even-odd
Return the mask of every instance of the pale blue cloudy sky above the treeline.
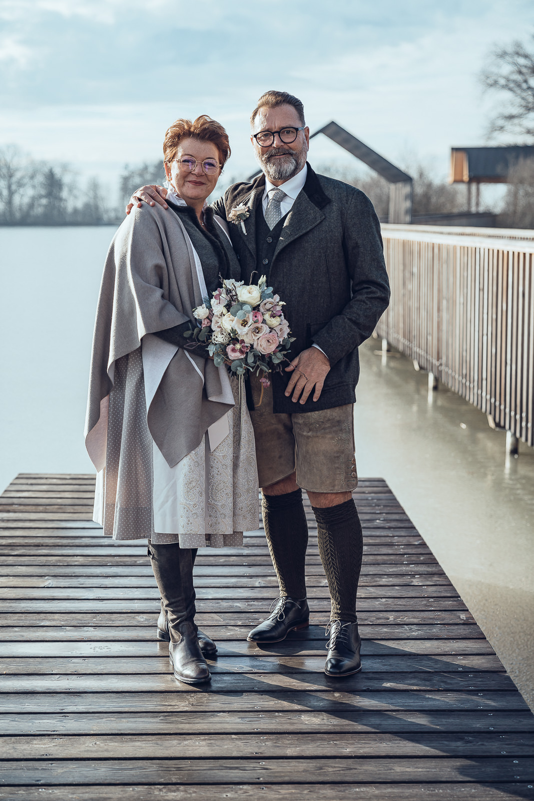
[[[227, 128], [226, 174], [255, 171], [249, 115], [267, 89], [303, 100], [400, 167], [447, 175], [450, 148], [485, 143], [478, 74], [526, 41], [532, 0], [0, 0], [0, 147], [116, 184], [159, 159], [177, 117]], [[323, 136], [310, 161], [351, 165]]]

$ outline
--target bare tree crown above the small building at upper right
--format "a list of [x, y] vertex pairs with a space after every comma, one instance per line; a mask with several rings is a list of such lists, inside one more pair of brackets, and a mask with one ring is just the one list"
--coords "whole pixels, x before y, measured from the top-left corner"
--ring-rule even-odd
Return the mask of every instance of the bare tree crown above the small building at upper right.
[[496, 47], [480, 81], [484, 89], [504, 96], [503, 107], [489, 123], [488, 135], [534, 137], [534, 34], [530, 47], [519, 41]]

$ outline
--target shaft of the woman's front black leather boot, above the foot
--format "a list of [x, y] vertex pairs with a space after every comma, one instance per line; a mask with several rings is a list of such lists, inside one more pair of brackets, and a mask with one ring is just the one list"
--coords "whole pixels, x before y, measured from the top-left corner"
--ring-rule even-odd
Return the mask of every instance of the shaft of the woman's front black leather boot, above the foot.
[[178, 542], [169, 545], [149, 543], [148, 555], [158, 584], [163, 608], [167, 614], [169, 634], [175, 642], [174, 628], [180, 623], [195, 621], [195, 587], [191, 548], [180, 548]]

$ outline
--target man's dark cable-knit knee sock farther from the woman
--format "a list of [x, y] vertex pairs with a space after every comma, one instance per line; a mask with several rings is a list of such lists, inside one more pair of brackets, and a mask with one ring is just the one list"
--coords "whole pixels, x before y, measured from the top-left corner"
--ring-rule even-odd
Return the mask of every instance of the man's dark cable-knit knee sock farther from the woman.
[[312, 506], [317, 543], [331, 595], [331, 619], [356, 622], [363, 536], [353, 499], [327, 509]]

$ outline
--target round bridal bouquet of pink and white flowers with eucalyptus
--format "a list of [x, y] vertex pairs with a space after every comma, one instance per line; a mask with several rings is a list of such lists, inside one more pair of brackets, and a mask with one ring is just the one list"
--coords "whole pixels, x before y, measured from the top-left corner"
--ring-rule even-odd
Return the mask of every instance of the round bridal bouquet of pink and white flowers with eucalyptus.
[[268, 387], [267, 374], [281, 369], [279, 364], [295, 341], [283, 316], [283, 300], [273, 295], [265, 276], [250, 286], [224, 280], [212, 294], [211, 300], [206, 298], [193, 309], [197, 328], [189, 336], [208, 345], [216, 367], [228, 364], [237, 376], [256, 372]]

